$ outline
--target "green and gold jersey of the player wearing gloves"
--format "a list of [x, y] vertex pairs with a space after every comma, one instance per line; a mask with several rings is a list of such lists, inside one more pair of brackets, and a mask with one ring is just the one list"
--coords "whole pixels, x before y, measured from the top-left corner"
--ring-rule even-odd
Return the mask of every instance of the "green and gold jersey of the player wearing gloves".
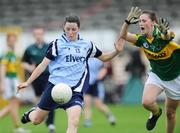
[[153, 38], [136, 34], [135, 46], [141, 47], [150, 61], [152, 72], [160, 79], [170, 81], [180, 74], [180, 45], [173, 42], [174, 33], [171, 32], [170, 40], [163, 40], [157, 27], [154, 28]]

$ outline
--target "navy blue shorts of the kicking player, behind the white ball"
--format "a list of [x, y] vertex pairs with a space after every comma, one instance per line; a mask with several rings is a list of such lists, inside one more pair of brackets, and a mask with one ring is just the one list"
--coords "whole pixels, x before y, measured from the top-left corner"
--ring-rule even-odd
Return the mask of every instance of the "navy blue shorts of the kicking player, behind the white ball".
[[51, 97], [51, 91], [54, 85], [50, 82], [47, 83], [47, 86], [41, 96], [40, 102], [38, 103], [38, 107], [43, 110], [54, 110], [56, 108], [62, 108], [66, 110], [74, 105], [83, 106], [83, 94], [79, 92], [73, 92], [71, 100], [66, 104], [58, 104]]

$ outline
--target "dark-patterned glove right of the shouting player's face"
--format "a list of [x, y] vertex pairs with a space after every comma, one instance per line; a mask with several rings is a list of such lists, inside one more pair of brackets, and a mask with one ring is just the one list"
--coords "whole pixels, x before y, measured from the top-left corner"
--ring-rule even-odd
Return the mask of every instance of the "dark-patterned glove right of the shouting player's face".
[[167, 35], [168, 30], [169, 30], [169, 22], [164, 18], [159, 18], [158, 19], [158, 29], [160, 30], [160, 32], [163, 35]]

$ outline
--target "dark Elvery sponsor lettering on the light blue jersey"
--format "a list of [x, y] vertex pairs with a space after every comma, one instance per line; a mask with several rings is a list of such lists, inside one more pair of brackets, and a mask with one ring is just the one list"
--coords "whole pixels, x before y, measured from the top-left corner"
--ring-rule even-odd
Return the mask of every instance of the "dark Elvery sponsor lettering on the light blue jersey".
[[66, 55], [66, 62], [82, 62], [85, 63], [86, 58], [83, 56]]

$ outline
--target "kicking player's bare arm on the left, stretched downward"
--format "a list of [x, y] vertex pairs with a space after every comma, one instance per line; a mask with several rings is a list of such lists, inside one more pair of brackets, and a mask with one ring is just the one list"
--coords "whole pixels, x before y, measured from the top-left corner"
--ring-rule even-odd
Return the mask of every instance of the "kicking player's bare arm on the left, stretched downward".
[[44, 58], [43, 61], [34, 69], [33, 73], [29, 77], [29, 79], [18, 85], [18, 90], [26, 88], [28, 85], [30, 85], [41, 73], [46, 69], [48, 64], [50, 63], [50, 60], [48, 58]]

